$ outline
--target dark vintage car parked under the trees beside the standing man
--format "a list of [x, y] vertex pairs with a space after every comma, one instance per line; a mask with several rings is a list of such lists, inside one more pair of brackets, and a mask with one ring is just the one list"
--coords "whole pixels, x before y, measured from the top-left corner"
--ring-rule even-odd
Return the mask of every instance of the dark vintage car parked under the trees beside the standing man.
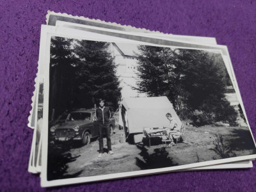
[[[80, 140], [88, 145], [92, 138], [99, 136], [99, 123], [95, 109], [76, 109], [68, 113], [67, 118], [50, 128], [50, 134], [56, 141]], [[115, 118], [109, 121], [110, 134], [115, 129]]]

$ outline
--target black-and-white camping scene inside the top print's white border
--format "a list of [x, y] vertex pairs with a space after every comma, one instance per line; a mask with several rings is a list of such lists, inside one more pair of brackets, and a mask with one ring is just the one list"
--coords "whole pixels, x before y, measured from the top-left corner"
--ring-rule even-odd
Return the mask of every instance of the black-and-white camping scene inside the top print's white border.
[[255, 155], [220, 51], [52, 36], [50, 57], [47, 180]]

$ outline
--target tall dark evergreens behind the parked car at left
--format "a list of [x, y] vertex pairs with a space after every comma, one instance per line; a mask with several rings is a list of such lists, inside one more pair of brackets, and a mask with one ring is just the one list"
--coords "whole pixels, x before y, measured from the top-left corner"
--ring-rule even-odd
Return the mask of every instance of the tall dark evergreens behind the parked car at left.
[[120, 87], [109, 44], [52, 37], [49, 119], [64, 111], [93, 108], [104, 98], [118, 107]]

